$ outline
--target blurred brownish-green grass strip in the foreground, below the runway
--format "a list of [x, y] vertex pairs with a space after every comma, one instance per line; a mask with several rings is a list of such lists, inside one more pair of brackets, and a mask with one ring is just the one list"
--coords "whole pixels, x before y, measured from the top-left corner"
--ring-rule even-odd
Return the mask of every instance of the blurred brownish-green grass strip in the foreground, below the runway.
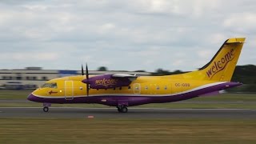
[[255, 134], [250, 119], [0, 119], [0, 143], [255, 143]]

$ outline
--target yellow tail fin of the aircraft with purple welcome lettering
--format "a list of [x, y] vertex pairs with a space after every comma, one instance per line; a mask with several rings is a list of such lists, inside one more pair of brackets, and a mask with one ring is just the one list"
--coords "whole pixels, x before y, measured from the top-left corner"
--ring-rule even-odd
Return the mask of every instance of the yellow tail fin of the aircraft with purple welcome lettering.
[[203, 80], [230, 82], [245, 40], [246, 38], [226, 40], [214, 58], [194, 74], [199, 74], [198, 77]]

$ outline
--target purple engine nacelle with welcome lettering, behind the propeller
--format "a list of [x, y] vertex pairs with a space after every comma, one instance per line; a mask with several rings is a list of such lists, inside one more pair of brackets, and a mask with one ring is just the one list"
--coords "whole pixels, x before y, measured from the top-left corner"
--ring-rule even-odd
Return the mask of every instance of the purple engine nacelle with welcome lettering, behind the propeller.
[[104, 74], [84, 79], [82, 82], [90, 84], [92, 89], [111, 89], [114, 87], [129, 86], [131, 81], [129, 78], [115, 78], [113, 74]]

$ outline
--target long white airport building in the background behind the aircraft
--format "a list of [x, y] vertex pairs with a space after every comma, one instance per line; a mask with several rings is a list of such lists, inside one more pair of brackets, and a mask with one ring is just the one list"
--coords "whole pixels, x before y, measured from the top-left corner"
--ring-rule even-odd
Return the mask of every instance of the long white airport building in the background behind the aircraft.
[[[42, 70], [41, 67], [26, 67], [25, 69], [17, 70], [0, 70], [0, 88], [16, 90], [36, 89], [50, 79], [79, 74], [81, 74], [81, 70]], [[150, 75], [151, 73], [89, 70], [89, 74], [137, 74], [139, 76], [146, 76]]]

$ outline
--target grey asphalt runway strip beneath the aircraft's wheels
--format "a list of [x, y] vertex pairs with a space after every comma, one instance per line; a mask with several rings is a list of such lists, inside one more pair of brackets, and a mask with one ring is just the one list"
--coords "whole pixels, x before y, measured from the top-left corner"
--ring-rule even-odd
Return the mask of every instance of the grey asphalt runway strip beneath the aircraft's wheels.
[[129, 108], [118, 113], [115, 108], [0, 107], [0, 118], [253, 118], [256, 110], [250, 109], [147, 109]]

